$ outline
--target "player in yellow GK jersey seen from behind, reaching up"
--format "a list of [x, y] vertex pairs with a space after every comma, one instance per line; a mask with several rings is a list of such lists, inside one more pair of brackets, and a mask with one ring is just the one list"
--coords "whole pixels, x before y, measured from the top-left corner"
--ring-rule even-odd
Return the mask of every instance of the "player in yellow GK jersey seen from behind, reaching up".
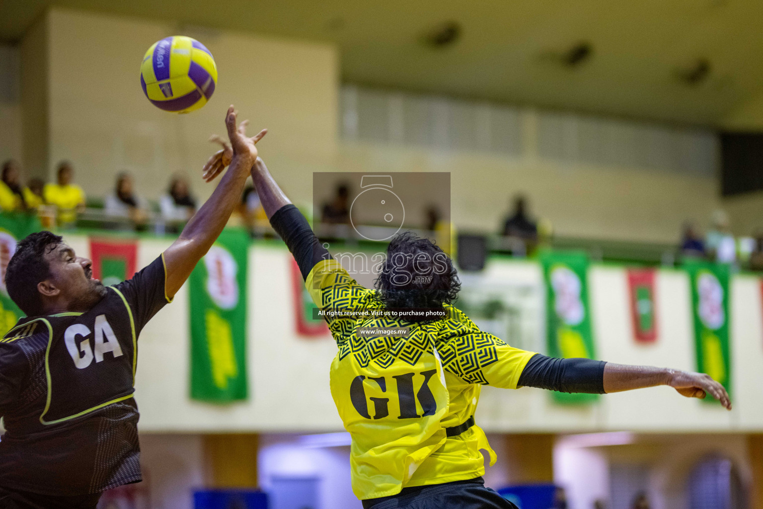
[[[224, 145], [204, 166], [204, 178], [214, 179], [232, 154]], [[474, 419], [481, 385], [592, 393], [670, 385], [687, 397], [709, 393], [731, 408], [723, 386], [708, 375], [553, 359], [482, 332], [451, 305], [460, 284], [449, 257], [410, 233], [389, 243], [376, 288], [363, 288], [320, 244], [262, 159], [252, 177], [315, 303], [336, 313], [327, 317], [339, 349], [331, 363], [331, 394], [353, 439], [353, 491], [365, 509], [516, 507], [485, 488], [481, 478], [479, 450], [494, 462]], [[401, 320], [374, 314], [391, 309], [444, 310], [446, 317]], [[346, 316], [359, 312], [371, 316]]]

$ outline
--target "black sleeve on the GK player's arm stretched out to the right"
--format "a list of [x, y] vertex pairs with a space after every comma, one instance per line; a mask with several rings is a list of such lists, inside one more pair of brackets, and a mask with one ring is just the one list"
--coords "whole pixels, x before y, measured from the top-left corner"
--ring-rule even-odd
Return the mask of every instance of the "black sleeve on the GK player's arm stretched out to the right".
[[517, 387], [604, 394], [605, 364], [603, 360], [556, 359], [536, 353], [523, 369]]

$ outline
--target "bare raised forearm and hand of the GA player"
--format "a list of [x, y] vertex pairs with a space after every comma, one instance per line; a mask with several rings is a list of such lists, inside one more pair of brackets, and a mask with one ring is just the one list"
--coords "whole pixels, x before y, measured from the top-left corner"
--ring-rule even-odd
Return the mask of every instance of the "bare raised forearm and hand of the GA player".
[[[246, 123], [242, 122], [240, 127], [236, 126], [236, 112], [233, 111], [233, 106], [228, 108], [225, 125], [231, 147], [230, 168], [217, 184], [210, 198], [185, 225], [178, 240], [175, 240], [164, 252], [165, 290], [169, 298], [178, 292], [191, 275], [198, 260], [207, 254], [227, 224], [233, 208], [241, 198], [244, 182], [257, 159], [255, 143], [267, 132], [262, 130], [255, 137], [246, 137], [244, 130]], [[209, 166], [213, 163], [213, 159], [204, 166], [205, 176], [211, 171]], [[215, 175], [221, 170], [222, 168], [218, 169]]]

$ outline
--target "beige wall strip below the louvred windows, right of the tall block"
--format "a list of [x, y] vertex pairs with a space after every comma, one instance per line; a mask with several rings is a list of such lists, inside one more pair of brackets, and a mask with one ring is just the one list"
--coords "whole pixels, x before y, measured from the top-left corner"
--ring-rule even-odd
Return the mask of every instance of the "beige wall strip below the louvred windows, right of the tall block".
[[681, 224], [717, 207], [716, 180], [675, 172], [563, 165], [528, 157], [343, 143], [340, 169], [451, 172], [453, 221], [497, 231], [517, 192], [565, 237], [678, 242]]

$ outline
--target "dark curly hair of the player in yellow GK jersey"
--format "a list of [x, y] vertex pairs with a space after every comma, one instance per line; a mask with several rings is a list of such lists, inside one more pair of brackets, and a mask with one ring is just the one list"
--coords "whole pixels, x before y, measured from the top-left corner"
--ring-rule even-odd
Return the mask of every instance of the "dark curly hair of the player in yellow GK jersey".
[[388, 309], [442, 308], [455, 301], [461, 289], [449, 256], [436, 243], [410, 231], [392, 238], [374, 283], [375, 298]]

